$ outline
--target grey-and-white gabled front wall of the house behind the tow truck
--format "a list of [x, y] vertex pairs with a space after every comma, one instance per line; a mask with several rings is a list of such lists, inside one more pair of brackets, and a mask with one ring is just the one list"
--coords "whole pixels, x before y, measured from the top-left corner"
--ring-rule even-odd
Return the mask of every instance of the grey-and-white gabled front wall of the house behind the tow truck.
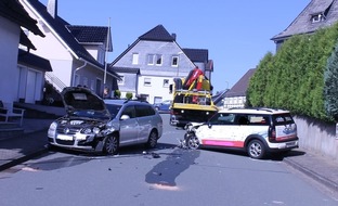
[[[132, 54], [139, 54], [139, 63], [132, 64]], [[148, 54], [161, 54], [161, 65], [147, 65]], [[172, 56], [179, 56], [179, 66], [172, 66]], [[133, 67], [140, 68], [140, 76], [134, 79], [138, 82], [138, 94], [148, 96], [148, 102], [154, 103], [154, 98], [162, 98], [162, 100], [172, 100], [169, 94], [169, 87], [164, 87], [164, 79], [169, 79], [169, 85], [173, 82], [173, 78], [184, 78], [195, 67], [191, 60], [182, 52], [176, 42], [162, 41], [139, 41], [131, 48], [115, 65], [115, 67]], [[120, 74], [126, 75], [126, 74]], [[152, 86], [144, 86], [144, 78], [152, 79]], [[125, 83], [127, 80], [125, 80]], [[125, 88], [130, 86], [125, 85]]]

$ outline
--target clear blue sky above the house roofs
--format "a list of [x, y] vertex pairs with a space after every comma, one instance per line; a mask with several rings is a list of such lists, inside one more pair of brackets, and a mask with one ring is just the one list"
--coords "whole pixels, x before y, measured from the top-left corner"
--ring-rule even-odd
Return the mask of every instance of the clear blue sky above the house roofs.
[[[231, 88], [275, 44], [311, 0], [58, 0], [58, 16], [73, 25], [108, 26], [113, 62], [138, 37], [161, 24], [181, 48], [207, 49], [216, 91]], [[40, 0], [47, 4], [48, 0]], [[109, 21], [110, 20], [110, 21]]]

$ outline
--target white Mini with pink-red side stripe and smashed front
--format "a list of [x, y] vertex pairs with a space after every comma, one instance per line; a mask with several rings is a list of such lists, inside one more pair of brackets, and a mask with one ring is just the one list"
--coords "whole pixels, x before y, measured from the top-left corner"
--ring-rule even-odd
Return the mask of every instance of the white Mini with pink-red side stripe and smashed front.
[[184, 143], [192, 149], [237, 149], [252, 158], [298, 147], [297, 126], [288, 111], [230, 108], [219, 111], [208, 123], [186, 126]]

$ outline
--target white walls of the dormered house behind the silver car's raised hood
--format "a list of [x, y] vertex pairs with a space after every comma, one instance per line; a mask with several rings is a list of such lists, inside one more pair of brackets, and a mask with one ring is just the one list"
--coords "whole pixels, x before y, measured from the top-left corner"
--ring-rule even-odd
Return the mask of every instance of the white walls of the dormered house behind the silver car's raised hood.
[[[41, 38], [29, 34], [28, 38], [37, 48], [31, 53], [44, 57], [50, 61], [53, 72], [46, 75], [46, 79], [50, 81], [58, 91], [69, 86], [86, 86], [96, 94], [103, 94], [104, 81], [106, 87], [112, 88], [115, 77], [107, 73], [106, 79], [104, 69], [94, 65], [83, 57], [79, 56], [76, 51], [68, 46], [65, 39], [60, 36], [55, 28], [32, 8], [29, 2], [20, 0], [27, 13], [38, 21], [37, 26], [46, 35]], [[56, 21], [56, 20], [55, 20]], [[105, 46], [80, 46], [92, 55], [99, 63], [103, 64], [105, 60]]]

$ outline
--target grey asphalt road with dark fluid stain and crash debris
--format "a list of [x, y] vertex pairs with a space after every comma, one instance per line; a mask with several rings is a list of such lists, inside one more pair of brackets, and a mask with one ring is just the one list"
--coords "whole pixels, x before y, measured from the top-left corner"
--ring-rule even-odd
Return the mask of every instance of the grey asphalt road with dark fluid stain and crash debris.
[[338, 205], [282, 160], [177, 147], [184, 130], [167, 118], [154, 151], [132, 146], [101, 156], [57, 150], [1, 172], [0, 205]]

